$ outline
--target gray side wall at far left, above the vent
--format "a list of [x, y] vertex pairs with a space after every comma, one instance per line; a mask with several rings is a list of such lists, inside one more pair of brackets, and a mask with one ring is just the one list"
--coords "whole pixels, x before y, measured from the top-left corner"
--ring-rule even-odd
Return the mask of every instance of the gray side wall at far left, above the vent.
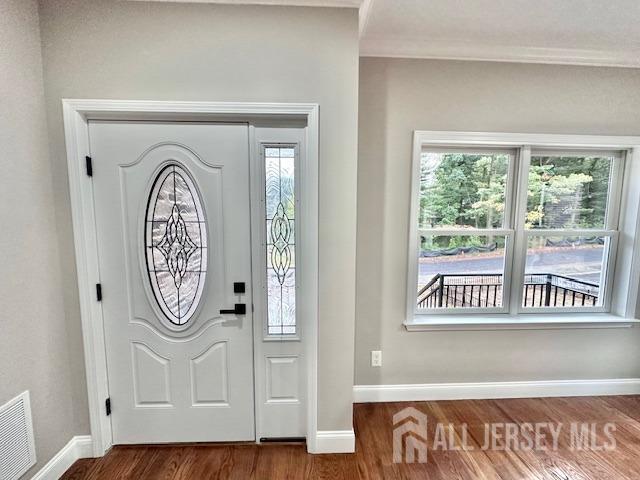
[[0, 2], [0, 405], [31, 392], [41, 468], [77, 433], [67, 352], [38, 6]]

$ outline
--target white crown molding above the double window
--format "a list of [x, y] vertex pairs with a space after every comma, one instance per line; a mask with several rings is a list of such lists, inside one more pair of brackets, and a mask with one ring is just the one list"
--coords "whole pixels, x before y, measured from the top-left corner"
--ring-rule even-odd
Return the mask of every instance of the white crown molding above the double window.
[[360, 41], [360, 56], [640, 67], [639, 50], [512, 47], [366, 35]]

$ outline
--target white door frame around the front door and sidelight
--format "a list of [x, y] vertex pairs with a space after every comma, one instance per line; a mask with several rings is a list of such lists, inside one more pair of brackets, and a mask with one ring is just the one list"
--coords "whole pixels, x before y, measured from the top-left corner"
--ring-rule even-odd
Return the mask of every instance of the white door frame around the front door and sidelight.
[[[307, 228], [297, 235], [301, 276], [298, 311], [305, 318], [307, 369], [307, 450], [317, 451], [318, 372], [318, 142], [319, 106], [314, 103], [172, 102], [138, 100], [63, 99], [67, 168], [73, 220], [80, 318], [84, 344], [89, 420], [93, 454], [103, 456], [113, 445], [111, 422], [105, 412], [109, 398], [102, 304], [95, 286], [100, 283], [98, 238], [93, 182], [86, 173], [90, 156], [90, 120], [133, 121], [246, 121], [262, 124], [283, 120], [306, 121], [304, 164], [300, 168], [300, 215]], [[253, 346], [255, 350], [255, 345]], [[253, 365], [252, 365], [253, 366]], [[255, 399], [254, 399], [255, 401]]]

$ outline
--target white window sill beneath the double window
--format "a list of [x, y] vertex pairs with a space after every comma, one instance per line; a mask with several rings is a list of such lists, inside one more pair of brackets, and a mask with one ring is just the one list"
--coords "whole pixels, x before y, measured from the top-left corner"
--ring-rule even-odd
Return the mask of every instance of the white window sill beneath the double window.
[[404, 321], [409, 332], [447, 330], [553, 330], [573, 328], [629, 328], [640, 320], [608, 313], [522, 315], [420, 315]]

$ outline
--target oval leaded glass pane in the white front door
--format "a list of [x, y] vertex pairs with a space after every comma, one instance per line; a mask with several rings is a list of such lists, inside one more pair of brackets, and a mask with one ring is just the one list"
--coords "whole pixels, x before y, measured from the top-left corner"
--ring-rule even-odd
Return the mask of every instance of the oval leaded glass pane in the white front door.
[[198, 308], [207, 272], [207, 229], [191, 175], [171, 164], [158, 173], [145, 218], [145, 250], [155, 300], [185, 325]]

